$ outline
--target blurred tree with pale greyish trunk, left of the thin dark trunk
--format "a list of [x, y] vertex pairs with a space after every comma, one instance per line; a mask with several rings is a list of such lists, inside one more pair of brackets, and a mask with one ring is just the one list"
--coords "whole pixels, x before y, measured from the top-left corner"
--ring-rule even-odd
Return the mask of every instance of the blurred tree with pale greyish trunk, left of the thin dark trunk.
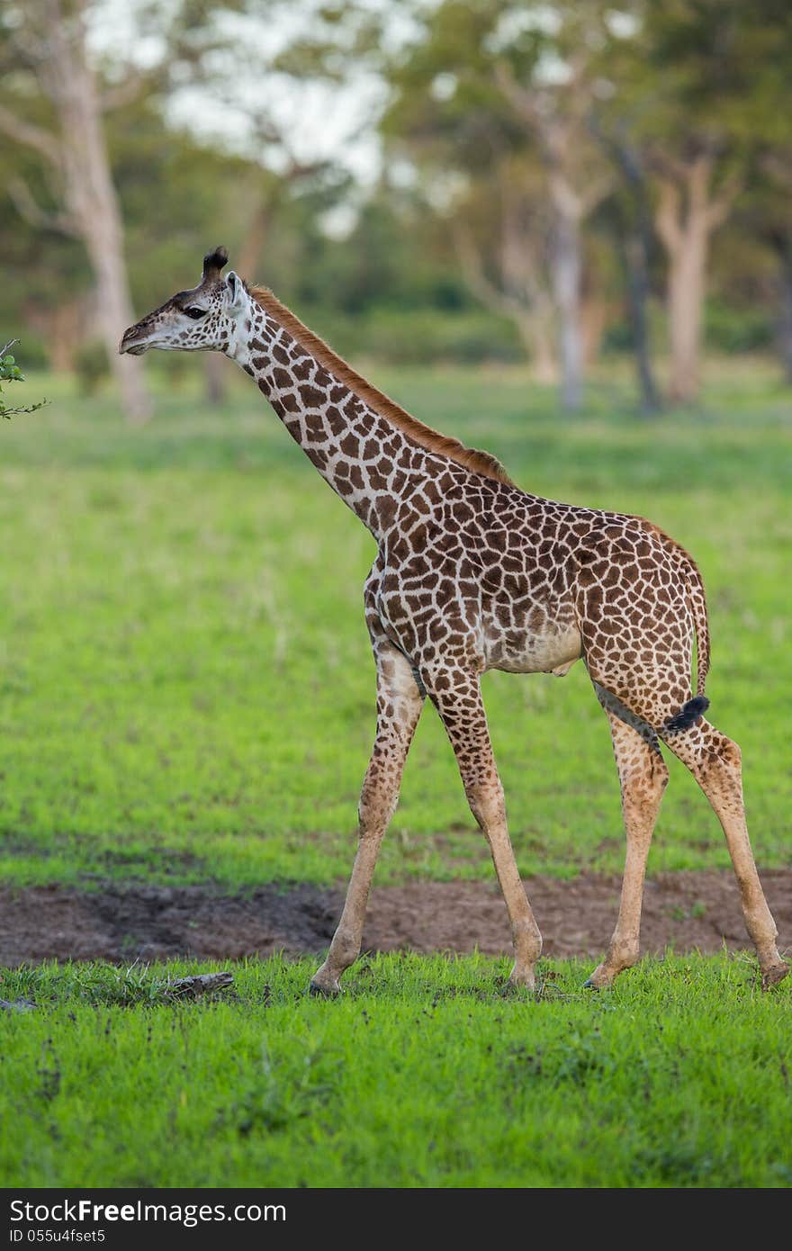
[[480, 298], [532, 340], [543, 372], [542, 330], [554, 324], [569, 408], [582, 399], [582, 225], [612, 181], [589, 126], [589, 34], [603, 11], [596, 0], [552, 9], [444, 0], [390, 66], [394, 100], [383, 123], [392, 146], [405, 141], [427, 179], [450, 166], [474, 199], [497, 189], [499, 259], [493, 264], [463, 226], [462, 260]]

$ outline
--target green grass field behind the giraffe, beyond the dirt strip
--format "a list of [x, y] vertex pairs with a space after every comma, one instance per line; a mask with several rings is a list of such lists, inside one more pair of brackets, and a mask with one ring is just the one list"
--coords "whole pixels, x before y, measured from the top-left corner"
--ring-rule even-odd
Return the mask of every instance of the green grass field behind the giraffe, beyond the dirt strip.
[[[701, 408], [647, 423], [616, 383], [572, 419], [519, 370], [374, 375], [527, 489], [643, 513], [696, 554], [712, 717], [743, 748], [759, 863], [788, 863], [789, 393], [713, 378]], [[0, 881], [343, 879], [374, 728], [370, 537], [241, 377], [215, 412], [160, 377], [145, 429], [109, 393], [28, 392], [53, 402], [0, 430]], [[619, 869], [583, 667], [484, 687], [523, 872]], [[727, 863], [673, 762], [649, 871]], [[378, 881], [490, 872], [428, 708]]]

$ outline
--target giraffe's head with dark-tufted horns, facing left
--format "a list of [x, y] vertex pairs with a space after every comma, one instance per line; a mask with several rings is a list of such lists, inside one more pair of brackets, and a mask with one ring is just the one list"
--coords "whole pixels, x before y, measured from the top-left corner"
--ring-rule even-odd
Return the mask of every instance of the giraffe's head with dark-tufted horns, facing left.
[[204, 256], [198, 286], [176, 291], [169, 300], [124, 332], [119, 352], [141, 357], [149, 348], [165, 352], [225, 352], [235, 338], [236, 320], [248, 304], [244, 283], [231, 270], [225, 248]]

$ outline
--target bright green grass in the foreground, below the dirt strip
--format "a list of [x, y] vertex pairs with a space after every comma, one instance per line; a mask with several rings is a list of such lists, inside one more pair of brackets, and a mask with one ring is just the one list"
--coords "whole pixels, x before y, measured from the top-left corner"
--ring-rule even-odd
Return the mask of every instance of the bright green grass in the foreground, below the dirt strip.
[[[208, 966], [204, 966], [206, 968]], [[644, 961], [604, 995], [552, 963], [309, 961], [173, 1005], [168, 973], [44, 966], [3, 995], [3, 1186], [789, 1186], [792, 1000], [739, 958]], [[591, 966], [588, 966], [591, 967]]]

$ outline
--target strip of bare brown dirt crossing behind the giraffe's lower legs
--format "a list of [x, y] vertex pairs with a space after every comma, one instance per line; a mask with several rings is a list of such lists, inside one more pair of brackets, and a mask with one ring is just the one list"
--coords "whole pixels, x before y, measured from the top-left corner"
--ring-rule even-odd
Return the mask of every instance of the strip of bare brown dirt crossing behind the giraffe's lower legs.
[[[792, 871], [762, 874], [779, 929], [792, 945]], [[534, 877], [527, 889], [548, 956], [597, 956], [618, 912], [621, 879], [583, 874]], [[223, 896], [203, 887], [59, 887], [0, 891], [0, 965], [59, 960], [233, 960], [275, 951], [315, 955], [333, 936], [342, 891], [261, 887]], [[704, 952], [748, 947], [734, 878], [728, 872], [661, 873], [647, 882], [642, 950]], [[369, 951], [509, 951], [505, 908], [493, 884], [415, 882], [372, 892]]]

